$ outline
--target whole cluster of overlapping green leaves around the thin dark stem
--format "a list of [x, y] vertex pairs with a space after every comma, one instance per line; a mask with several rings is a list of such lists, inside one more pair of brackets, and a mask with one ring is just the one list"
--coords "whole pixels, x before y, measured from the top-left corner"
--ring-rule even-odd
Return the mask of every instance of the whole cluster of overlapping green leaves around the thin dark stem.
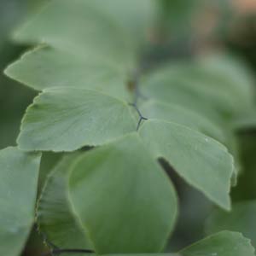
[[51, 253], [157, 255], [179, 215], [173, 171], [216, 207], [207, 237], [175, 255], [254, 255], [256, 202], [230, 197], [253, 77], [223, 53], [158, 61], [154, 42], [195, 11], [162, 2], [55, 0], [15, 31], [33, 49], [4, 73], [39, 93], [0, 151], [1, 255], [20, 255], [35, 217]]

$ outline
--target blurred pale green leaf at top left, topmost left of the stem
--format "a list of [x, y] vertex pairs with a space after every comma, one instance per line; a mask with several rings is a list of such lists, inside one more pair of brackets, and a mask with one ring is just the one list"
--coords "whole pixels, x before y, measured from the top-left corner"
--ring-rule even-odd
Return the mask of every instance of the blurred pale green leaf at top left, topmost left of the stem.
[[123, 67], [129, 67], [134, 61], [134, 45], [129, 34], [89, 0], [51, 1], [20, 26], [15, 40], [49, 44], [75, 55], [105, 59]]

